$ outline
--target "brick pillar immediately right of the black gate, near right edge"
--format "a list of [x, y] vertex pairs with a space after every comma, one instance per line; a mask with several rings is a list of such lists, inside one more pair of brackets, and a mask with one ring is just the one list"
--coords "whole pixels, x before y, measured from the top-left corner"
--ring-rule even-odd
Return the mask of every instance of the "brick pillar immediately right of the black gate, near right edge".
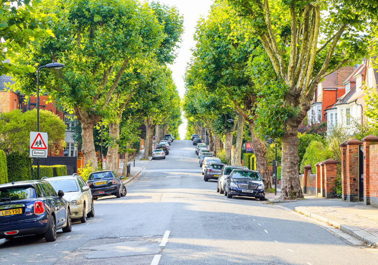
[[[378, 137], [369, 135], [362, 139], [364, 143], [364, 204], [370, 204], [371, 192], [373, 187], [370, 187], [370, 146], [378, 144]], [[378, 154], [375, 154], [378, 155]]]

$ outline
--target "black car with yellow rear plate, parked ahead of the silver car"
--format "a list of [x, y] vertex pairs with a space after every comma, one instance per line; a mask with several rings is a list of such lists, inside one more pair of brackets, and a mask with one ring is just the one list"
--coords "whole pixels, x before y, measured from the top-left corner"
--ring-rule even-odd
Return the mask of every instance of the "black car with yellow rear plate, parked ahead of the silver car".
[[115, 195], [117, 198], [126, 196], [126, 187], [122, 181], [124, 177], [119, 177], [114, 171], [103, 170], [89, 174], [87, 185], [92, 192], [93, 199], [102, 196]]

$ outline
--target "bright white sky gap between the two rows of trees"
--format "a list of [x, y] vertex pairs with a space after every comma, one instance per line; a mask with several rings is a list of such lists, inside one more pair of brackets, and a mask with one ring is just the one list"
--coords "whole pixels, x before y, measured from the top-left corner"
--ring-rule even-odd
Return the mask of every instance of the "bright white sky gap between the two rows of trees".
[[[156, 1], [156, 0], [155, 0]], [[152, 1], [149, 1], [152, 2]], [[193, 40], [194, 33], [196, 32], [197, 21], [201, 16], [206, 17], [212, 0], [157, 0], [162, 4], [169, 6], [176, 6], [180, 14], [184, 16], [184, 33], [180, 43], [180, 49], [177, 52], [177, 58], [173, 65], [172, 76], [177, 86], [180, 97], [183, 98], [185, 93], [184, 87], [184, 74], [187, 62], [190, 61], [192, 56], [191, 48], [196, 45]], [[184, 139], [186, 134], [187, 121], [182, 117], [183, 124], [179, 128], [180, 138]]]

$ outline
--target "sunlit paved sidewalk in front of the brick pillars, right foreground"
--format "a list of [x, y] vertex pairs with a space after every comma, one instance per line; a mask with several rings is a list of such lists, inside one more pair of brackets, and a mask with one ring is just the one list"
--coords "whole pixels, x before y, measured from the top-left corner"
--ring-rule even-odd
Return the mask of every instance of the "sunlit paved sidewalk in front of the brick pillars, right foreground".
[[[271, 202], [278, 202], [278, 195], [266, 196]], [[282, 202], [280, 205], [297, 213], [332, 225], [355, 236], [371, 246], [378, 247], [378, 208], [361, 202], [341, 199], [325, 199], [305, 195], [304, 200]]]

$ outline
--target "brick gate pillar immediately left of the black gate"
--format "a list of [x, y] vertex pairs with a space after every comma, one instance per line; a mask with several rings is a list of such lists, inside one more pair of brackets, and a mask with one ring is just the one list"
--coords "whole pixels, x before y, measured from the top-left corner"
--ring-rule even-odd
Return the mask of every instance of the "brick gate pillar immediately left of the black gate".
[[359, 148], [362, 142], [353, 138], [346, 144], [346, 199], [348, 201], [360, 201]]

